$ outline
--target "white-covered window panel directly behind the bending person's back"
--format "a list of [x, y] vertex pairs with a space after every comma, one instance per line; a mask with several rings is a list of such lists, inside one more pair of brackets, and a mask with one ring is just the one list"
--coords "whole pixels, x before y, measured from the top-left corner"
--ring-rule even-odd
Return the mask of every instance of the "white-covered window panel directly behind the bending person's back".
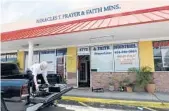
[[48, 73], [56, 73], [56, 52], [55, 50], [45, 50], [40, 52], [40, 62], [48, 63]]

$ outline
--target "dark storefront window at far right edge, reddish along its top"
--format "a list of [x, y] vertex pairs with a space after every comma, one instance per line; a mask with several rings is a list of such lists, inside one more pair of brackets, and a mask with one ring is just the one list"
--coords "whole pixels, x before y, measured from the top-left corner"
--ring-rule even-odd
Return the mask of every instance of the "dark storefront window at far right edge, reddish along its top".
[[169, 41], [153, 42], [155, 71], [169, 71]]

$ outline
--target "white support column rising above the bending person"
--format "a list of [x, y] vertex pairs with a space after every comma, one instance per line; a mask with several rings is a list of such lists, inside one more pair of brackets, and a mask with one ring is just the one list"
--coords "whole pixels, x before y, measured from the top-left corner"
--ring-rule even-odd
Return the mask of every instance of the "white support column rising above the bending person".
[[33, 43], [29, 41], [29, 49], [28, 49], [28, 67], [32, 65], [33, 62]]

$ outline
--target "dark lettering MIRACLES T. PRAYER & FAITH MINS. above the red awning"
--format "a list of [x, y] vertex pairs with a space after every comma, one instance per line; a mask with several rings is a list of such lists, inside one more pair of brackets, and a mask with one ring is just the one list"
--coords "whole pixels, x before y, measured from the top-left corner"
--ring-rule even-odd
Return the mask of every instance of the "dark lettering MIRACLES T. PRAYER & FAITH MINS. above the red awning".
[[55, 16], [50, 16], [50, 17], [46, 17], [46, 18], [39, 18], [36, 20], [36, 23], [43, 23], [43, 22], [48, 22], [48, 21], [56, 21], [56, 20], [92, 15], [92, 14], [97, 14], [97, 13], [102, 13], [102, 12], [118, 10], [120, 8], [121, 7], [119, 4], [108, 5], [108, 6], [97, 7], [97, 8], [93, 8], [93, 9], [87, 9], [87, 10], [76, 11], [76, 12], [71, 12], [71, 13], [64, 13], [61, 15], [55, 15]]

